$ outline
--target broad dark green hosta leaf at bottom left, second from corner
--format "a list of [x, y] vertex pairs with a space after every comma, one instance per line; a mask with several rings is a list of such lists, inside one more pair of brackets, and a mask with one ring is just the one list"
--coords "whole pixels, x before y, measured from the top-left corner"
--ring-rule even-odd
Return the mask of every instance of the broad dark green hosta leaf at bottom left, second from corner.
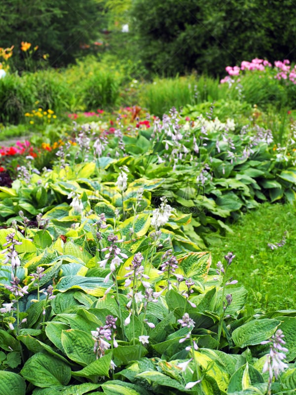
[[22, 376], [37, 387], [67, 385], [71, 379], [70, 366], [47, 353], [37, 353], [29, 358]]

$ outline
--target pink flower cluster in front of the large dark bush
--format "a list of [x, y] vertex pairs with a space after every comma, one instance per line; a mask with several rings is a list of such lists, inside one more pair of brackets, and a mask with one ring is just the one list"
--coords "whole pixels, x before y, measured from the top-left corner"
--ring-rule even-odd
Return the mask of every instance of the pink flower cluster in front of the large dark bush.
[[[291, 66], [289, 66], [290, 61], [285, 59], [283, 62], [277, 60], [274, 62], [274, 70], [277, 72], [275, 78], [276, 79], [289, 79], [293, 83], [296, 84], [296, 66], [291, 70]], [[263, 60], [259, 58], [255, 58], [252, 62], [242, 61], [240, 67], [239, 66], [227, 66], [225, 68], [228, 76], [221, 79], [220, 83], [231, 82], [230, 77], [239, 76], [241, 71], [244, 70], [259, 70], [265, 72], [266, 68], [271, 68], [272, 64], [268, 62], [268, 60]], [[230, 76], [230, 77], [229, 77]], [[232, 81], [233, 82], [233, 81]]]

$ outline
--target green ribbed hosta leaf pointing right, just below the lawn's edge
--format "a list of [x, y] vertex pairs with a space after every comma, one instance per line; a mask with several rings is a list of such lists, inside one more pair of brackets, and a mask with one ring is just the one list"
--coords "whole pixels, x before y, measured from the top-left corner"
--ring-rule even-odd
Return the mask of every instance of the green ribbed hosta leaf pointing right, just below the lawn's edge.
[[234, 329], [232, 340], [240, 348], [260, 344], [274, 334], [280, 323], [276, 319], [254, 319]]

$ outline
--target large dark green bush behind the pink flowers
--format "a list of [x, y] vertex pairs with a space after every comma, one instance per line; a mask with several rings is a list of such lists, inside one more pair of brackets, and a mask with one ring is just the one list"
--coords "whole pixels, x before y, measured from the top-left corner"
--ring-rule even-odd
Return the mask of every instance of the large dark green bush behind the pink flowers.
[[150, 71], [176, 75], [196, 69], [217, 75], [225, 64], [252, 57], [293, 60], [295, 15], [291, 0], [136, 0], [132, 31]]

